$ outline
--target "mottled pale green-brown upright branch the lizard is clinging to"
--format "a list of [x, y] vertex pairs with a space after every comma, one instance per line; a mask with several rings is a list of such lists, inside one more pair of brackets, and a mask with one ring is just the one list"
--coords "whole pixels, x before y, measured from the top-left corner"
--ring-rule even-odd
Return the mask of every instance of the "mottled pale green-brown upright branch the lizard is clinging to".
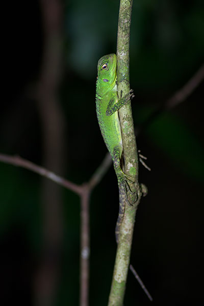
[[[121, 91], [122, 95], [130, 91], [129, 53], [131, 12], [132, 0], [120, 0], [117, 37], [118, 95], [120, 95]], [[130, 206], [125, 200], [125, 212], [120, 226], [120, 240], [116, 252], [108, 306], [123, 305], [127, 271], [130, 264], [135, 215], [141, 198], [141, 191], [138, 184], [138, 156], [131, 103], [126, 104], [119, 110], [119, 117], [122, 132], [124, 172], [129, 174], [134, 181], [134, 184], [130, 184], [130, 188], [134, 192], [135, 202]]]

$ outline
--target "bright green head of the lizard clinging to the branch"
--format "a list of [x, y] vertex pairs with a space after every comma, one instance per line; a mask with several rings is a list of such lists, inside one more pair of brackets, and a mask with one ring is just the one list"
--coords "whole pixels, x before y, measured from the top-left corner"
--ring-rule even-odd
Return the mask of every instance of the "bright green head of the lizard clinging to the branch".
[[114, 53], [101, 57], [98, 61], [98, 79], [101, 82], [112, 84], [116, 78], [117, 58]]

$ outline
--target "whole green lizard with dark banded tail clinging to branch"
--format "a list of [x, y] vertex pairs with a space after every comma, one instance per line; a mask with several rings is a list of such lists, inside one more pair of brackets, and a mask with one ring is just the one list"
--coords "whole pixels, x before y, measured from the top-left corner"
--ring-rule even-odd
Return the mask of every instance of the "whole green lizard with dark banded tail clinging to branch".
[[101, 134], [113, 159], [115, 173], [119, 187], [119, 214], [116, 224], [116, 241], [118, 243], [119, 230], [124, 215], [124, 203], [127, 199], [127, 191], [130, 191], [128, 182], [133, 183], [126, 175], [120, 165], [122, 156], [122, 136], [118, 110], [130, 101], [133, 90], [125, 96], [117, 95], [117, 58], [115, 54], [101, 57], [98, 61], [98, 77], [96, 82], [96, 113]]

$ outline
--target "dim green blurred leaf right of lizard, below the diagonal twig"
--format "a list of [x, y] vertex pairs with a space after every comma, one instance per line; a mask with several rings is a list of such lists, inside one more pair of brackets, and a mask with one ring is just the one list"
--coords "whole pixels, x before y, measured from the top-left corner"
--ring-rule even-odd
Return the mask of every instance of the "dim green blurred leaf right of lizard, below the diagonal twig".
[[[137, 108], [135, 121], [145, 122], [152, 112], [150, 108]], [[148, 124], [145, 136], [191, 179], [204, 182], [203, 147], [181, 117], [164, 112]]]

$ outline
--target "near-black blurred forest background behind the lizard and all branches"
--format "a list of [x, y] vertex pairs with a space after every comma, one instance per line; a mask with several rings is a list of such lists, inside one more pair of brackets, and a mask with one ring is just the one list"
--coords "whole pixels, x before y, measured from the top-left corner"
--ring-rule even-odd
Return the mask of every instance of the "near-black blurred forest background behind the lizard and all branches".
[[[116, 0], [62, 3], [58, 94], [66, 122], [63, 175], [76, 184], [88, 181], [107, 151], [95, 114], [95, 80], [98, 59], [116, 52], [118, 8]], [[33, 94], [43, 65], [41, 5], [11, 2], [5, 16], [6, 95], [0, 112], [0, 151], [45, 166], [42, 123]], [[136, 126], [192, 77], [203, 55], [202, 0], [134, 1], [130, 79]], [[203, 302], [203, 97], [200, 84], [181, 105], [149, 124], [137, 141], [151, 172], [140, 164], [139, 179], [148, 187], [148, 195], [138, 207], [131, 263], [155, 305]], [[34, 305], [33, 283], [43, 248], [42, 178], [0, 163], [0, 182], [3, 304], [15, 300]], [[60, 192], [63, 242], [53, 305], [78, 305], [80, 199], [64, 188]], [[111, 167], [90, 202], [90, 305], [108, 301], [117, 214], [117, 182]], [[129, 273], [124, 304], [149, 303]]]

